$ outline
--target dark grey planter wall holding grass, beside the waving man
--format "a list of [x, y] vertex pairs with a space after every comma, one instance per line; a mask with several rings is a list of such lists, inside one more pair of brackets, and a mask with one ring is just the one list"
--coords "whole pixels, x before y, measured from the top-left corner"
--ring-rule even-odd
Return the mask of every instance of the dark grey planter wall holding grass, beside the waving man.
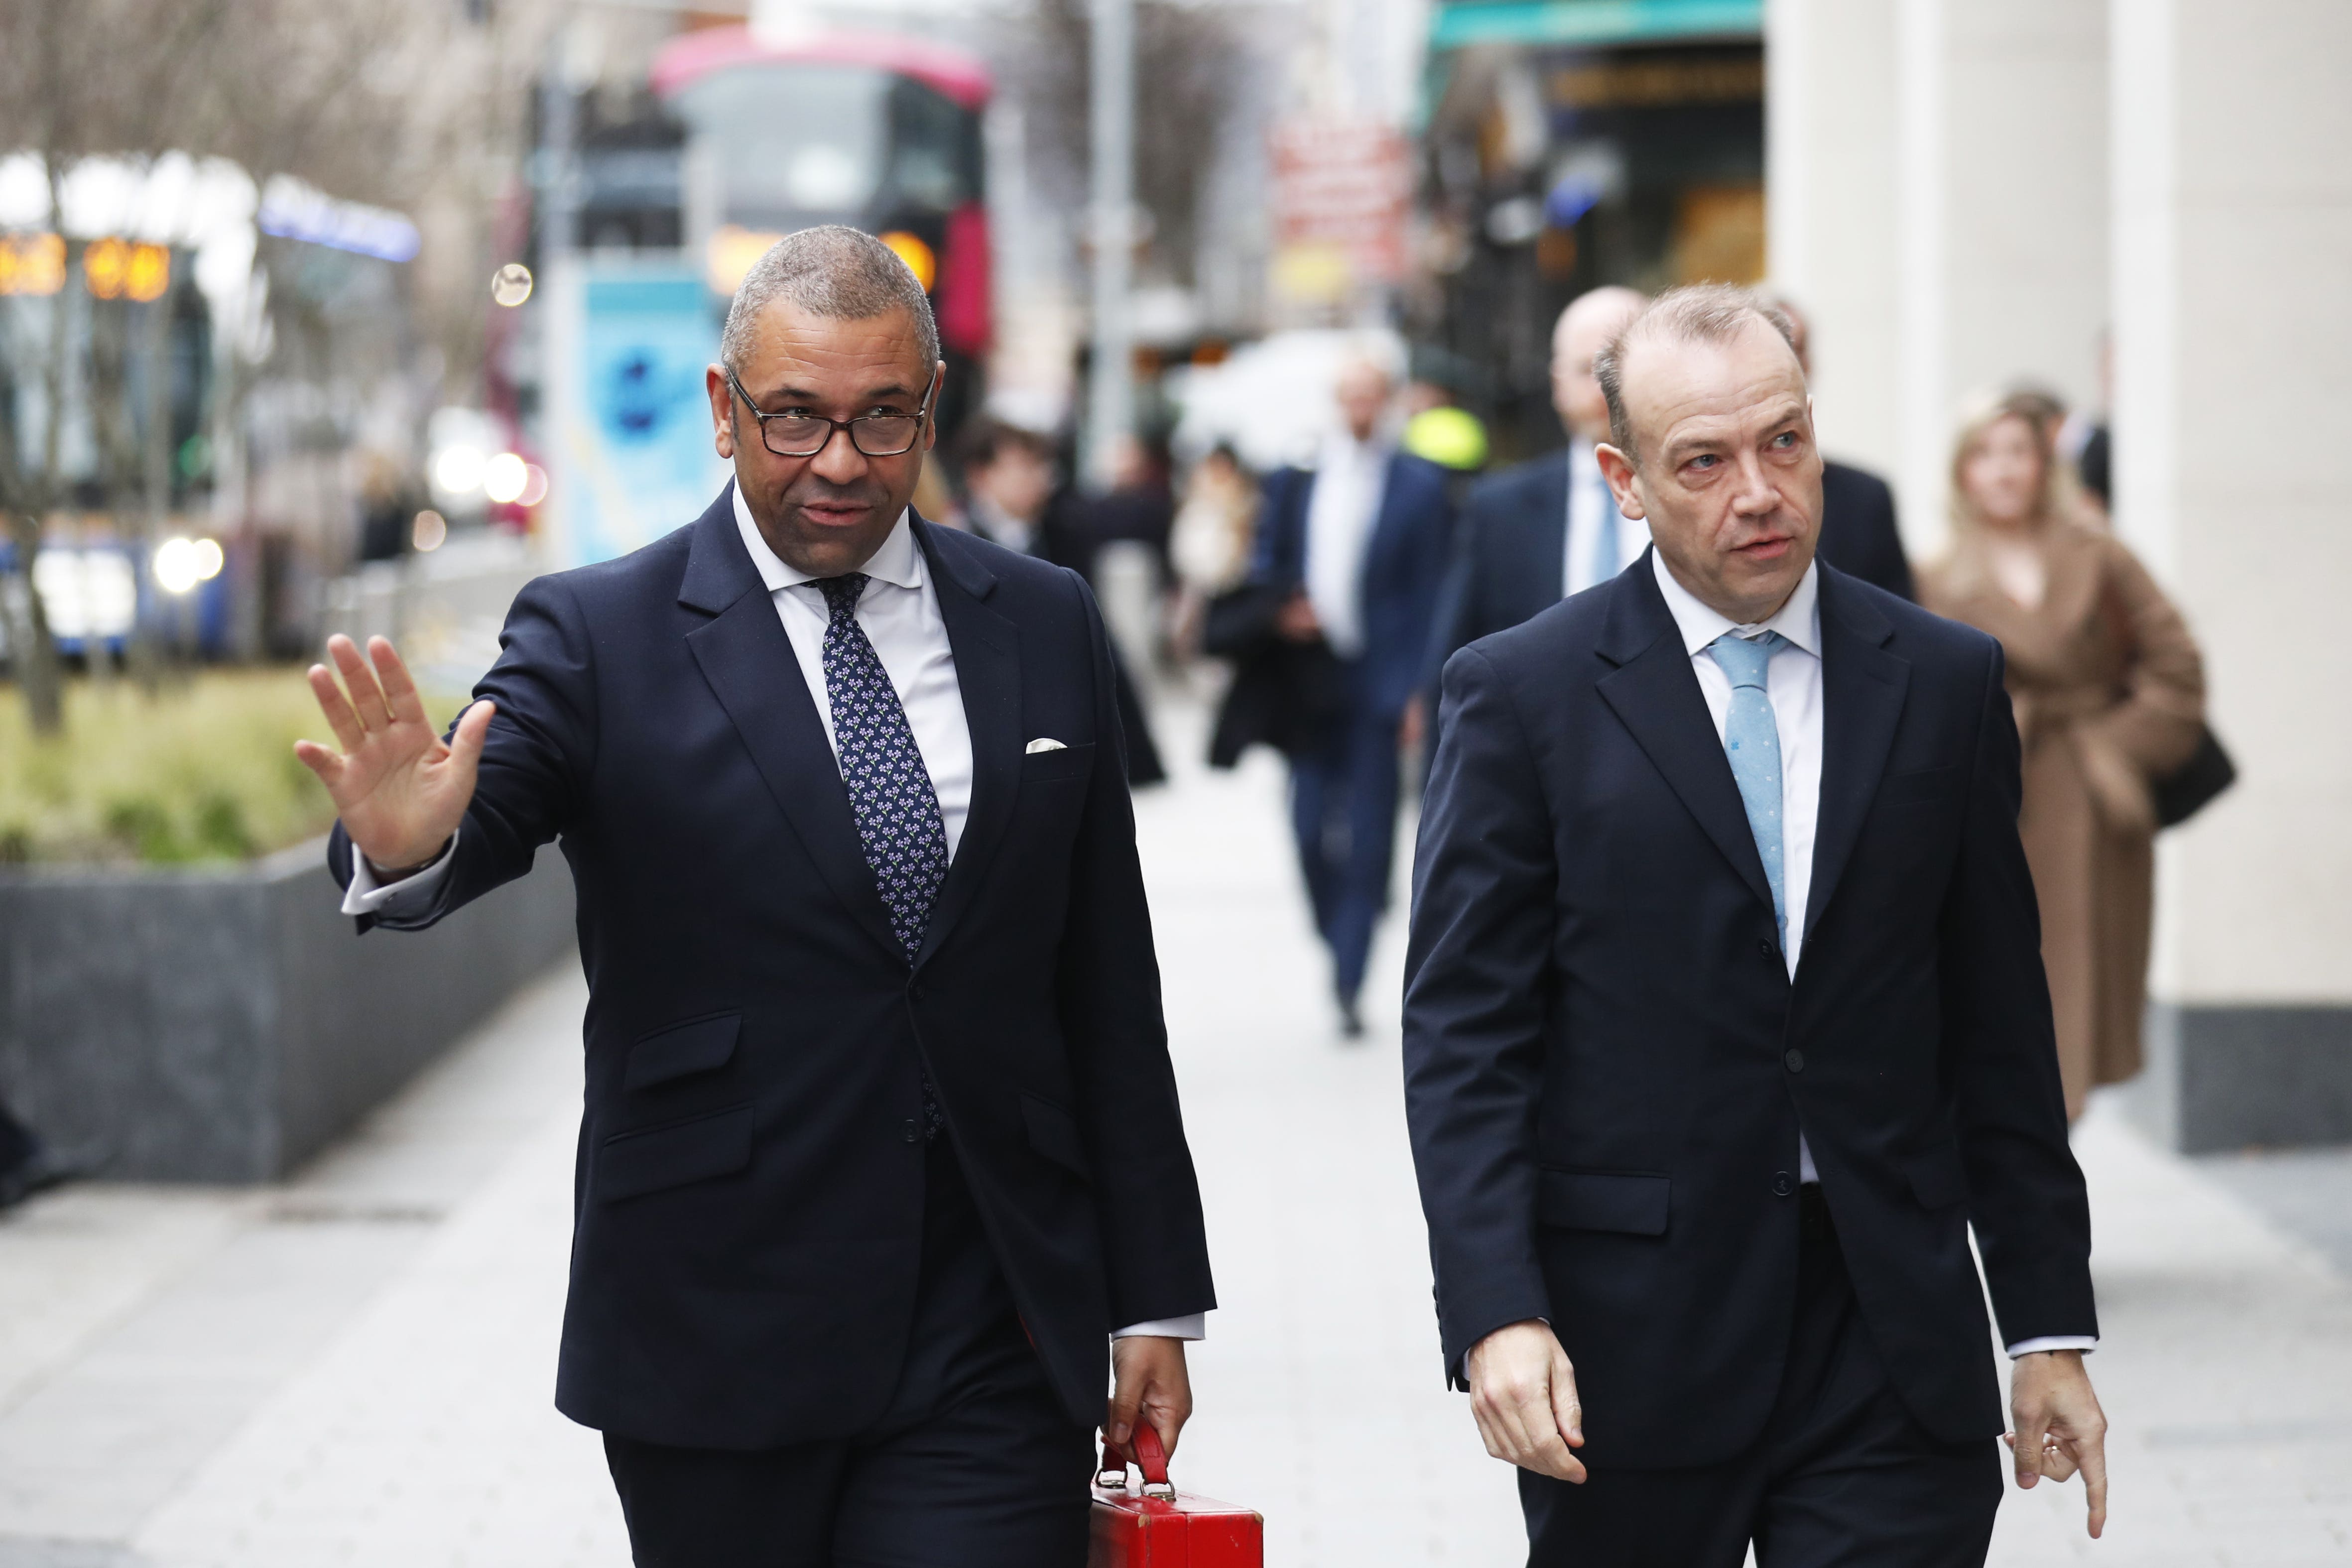
[[325, 844], [0, 877], [0, 1098], [92, 1175], [273, 1180], [572, 950], [553, 849], [426, 933], [339, 900]]

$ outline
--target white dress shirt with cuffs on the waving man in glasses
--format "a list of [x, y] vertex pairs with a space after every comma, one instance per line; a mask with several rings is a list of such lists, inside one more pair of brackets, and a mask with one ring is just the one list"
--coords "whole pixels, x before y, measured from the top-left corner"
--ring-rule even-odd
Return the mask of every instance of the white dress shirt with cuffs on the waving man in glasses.
[[[783, 635], [793, 644], [793, 661], [816, 701], [816, 719], [826, 726], [826, 745], [833, 748], [835, 764], [840, 764], [842, 748], [833, 736], [833, 703], [826, 701], [826, 625], [830, 625], [833, 611], [814, 576], [788, 567], [767, 548], [743, 491], [734, 487], [729, 491], [743, 548], [750, 552], [760, 581], [767, 583], [776, 618], [783, 621]], [[964, 689], [955, 679], [955, 649], [948, 644], [948, 623], [938, 611], [938, 590], [931, 585], [929, 564], [922, 559], [906, 512], [898, 515], [898, 524], [882, 541], [882, 548], [858, 571], [868, 576], [866, 590], [858, 595], [858, 628], [882, 661], [882, 670], [898, 693], [898, 705], [906, 708], [908, 729], [915, 731], [915, 750], [922, 752], [931, 792], [938, 795], [938, 818], [953, 860], [964, 837], [964, 818], [971, 816], [971, 724], [964, 717]], [[353, 853], [343, 912], [376, 914], [388, 907], [430, 903], [433, 891], [449, 875], [454, 849], [456, 837], [452, 835], [449, 846], [433, 865], [390, 886], [376, 884], [367, 856]], [[1200, 1340], [1207, 1338], [1207, 1314], [1131, 1324], [1110, 1338], [1124, 1340], [1129, 1335]]]

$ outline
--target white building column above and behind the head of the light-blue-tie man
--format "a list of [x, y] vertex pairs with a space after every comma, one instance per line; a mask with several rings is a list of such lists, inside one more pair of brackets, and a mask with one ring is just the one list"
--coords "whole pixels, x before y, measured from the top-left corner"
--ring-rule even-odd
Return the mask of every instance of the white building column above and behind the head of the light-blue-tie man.
[[1816, 324], [1820, 442], [1945, 538], [1964, 397], [2096, 404], [2107, 0], [1771, 0], [1771, 270]]

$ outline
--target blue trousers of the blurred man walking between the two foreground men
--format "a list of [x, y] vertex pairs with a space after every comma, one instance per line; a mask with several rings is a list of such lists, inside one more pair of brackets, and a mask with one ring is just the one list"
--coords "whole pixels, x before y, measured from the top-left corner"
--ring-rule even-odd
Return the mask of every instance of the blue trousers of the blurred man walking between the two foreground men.
[[1291, 757], [1291, 832], [1334, 987], [1355, 1001], [1397, 844], [1397, 715], [1350, 708], [1322, 745]]

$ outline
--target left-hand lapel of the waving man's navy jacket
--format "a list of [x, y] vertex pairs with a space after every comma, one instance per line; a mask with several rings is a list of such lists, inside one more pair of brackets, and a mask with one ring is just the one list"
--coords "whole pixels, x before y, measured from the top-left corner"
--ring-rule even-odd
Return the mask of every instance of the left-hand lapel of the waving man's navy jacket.
[[687, 649], [809, 860], [856, 922], [903, 959], [906, 947], [889, 929], [873, 867], [866, 865], [849, 790], [826, 745], [809, 684], [800, 677], [793, 639], [783, 635], [767, 583], [736, 534], [731, 491], [696, 524], [680, 602], [715, 611], [713, 621], [687, 632]]

